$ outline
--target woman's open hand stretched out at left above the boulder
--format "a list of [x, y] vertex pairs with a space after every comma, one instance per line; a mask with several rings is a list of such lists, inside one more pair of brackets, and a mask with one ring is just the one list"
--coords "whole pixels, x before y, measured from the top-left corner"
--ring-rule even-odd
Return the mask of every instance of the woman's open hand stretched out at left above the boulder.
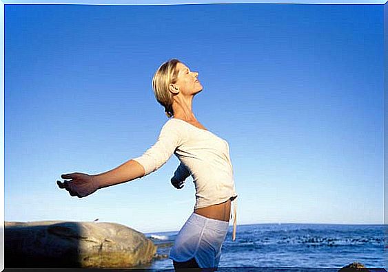
[[70, 193], [70, 196], [85, 197], [96, 192], [99, 185], [93, 176], [83, 173], [62, 174], [62, 179], [70, 179], [69, 181], [57, 181], [57, 185], [61, 189], [65, 189]]

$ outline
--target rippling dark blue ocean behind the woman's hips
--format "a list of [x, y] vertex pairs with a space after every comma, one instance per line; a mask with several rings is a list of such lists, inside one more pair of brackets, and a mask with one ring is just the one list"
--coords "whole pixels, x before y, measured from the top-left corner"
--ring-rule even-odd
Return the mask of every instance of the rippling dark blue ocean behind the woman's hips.
[[[384, 225], [237, 225], [236, 240], [233, 242], [230, 225], [221, 249], [219, 267], [302, 267], [338, 270], [351, 262], [360, 262], [367, 268], [386, 269], [384, 230]], [[177, 234], [178, 231], [168, 231], [148, 233], [145, 236], [158, 245], [156, 253], [168, 256]], [[172, 260], [154, 260], [148, 268], [172, 269]]]

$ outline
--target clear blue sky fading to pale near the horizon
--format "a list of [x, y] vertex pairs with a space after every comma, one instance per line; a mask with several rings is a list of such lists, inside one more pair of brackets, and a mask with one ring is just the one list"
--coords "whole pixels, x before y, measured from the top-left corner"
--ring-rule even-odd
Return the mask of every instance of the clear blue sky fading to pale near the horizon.
[[238, 224], [383, 223], [383, 5], [6, 5], [5, 220], [178, 230], [194, 208], [173, 157], [78, 199], [55, 181], [138, 157], [167, 121], [178, 58], [198, 120], [229, 142]]

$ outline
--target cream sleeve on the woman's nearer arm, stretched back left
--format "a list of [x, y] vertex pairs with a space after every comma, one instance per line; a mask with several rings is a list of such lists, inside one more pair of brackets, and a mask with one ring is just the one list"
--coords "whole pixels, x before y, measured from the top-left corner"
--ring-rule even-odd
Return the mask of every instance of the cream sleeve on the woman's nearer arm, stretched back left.
[[161, 168], [170, 159], [176, 147], [180, 146], [182, 142], [182, 131], [178, 126], [173, 126], [172, 123], [167, 122], [162, 127], [156, 143], [151, 148], [148, 148], [143, 155], [133, 160], [143, 166], [145, 170], [144, 176], [146, 176]]

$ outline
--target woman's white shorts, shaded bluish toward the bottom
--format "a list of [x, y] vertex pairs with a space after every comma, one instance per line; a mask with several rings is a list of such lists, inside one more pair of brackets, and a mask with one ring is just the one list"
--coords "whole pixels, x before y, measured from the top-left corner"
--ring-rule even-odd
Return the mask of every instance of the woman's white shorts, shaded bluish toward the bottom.
[[176, 237], [170, 259], [185, 262], [195, 258], [201, 268], [218, 267], [228, 227], [227, 221], [207, 218], [193, 212]]

